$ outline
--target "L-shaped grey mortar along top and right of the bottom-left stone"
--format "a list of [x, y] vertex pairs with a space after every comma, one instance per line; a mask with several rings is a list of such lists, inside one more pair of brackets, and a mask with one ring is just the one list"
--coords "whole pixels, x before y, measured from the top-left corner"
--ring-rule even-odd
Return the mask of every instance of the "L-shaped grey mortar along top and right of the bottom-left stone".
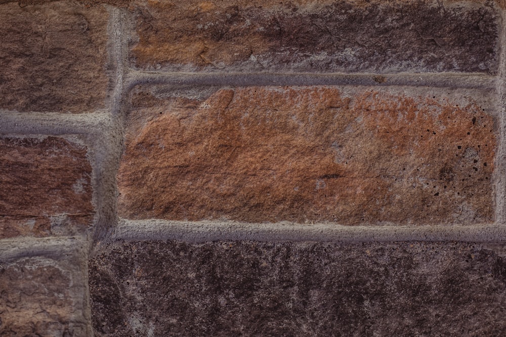
[[[93, 336], [91, 321], [90, 291], [88, 286], [88, 251], [86, 237], [22, 237], [0, 239], [0, 263], [10, 264], [26, 258], [46, 258], [54, 260], [58, 266], [71, 275], [68, 289], [70, 299], [80, 308], [81, 313], [72, 316], [86, 327], [85, 336]], [[78, 337], [78, 336], [76, 336]]]

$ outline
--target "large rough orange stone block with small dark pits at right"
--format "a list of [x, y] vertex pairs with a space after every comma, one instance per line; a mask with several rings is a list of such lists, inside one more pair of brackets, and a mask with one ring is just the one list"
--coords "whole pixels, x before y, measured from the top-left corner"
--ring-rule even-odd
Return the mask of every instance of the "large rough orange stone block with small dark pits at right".
[[189, 99], [140, 88], [118, 174], [119, 215], [492, 221], [494, 118], [487, 98], [482, 106], [473, 94], [480, 97], [441, 89], [243, 87]]

